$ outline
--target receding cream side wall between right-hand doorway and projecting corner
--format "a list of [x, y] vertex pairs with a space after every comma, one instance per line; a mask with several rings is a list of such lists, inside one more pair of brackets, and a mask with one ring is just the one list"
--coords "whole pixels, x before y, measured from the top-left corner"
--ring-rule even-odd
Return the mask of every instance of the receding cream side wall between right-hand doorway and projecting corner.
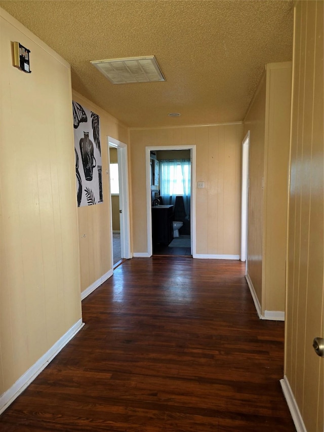
[[265, 146], [266, 72], [244, 121], [244, 136], [250, 131], [249, 210], [248, 210], [248, 275], [262, 303], [263, 259], [263, 178]]

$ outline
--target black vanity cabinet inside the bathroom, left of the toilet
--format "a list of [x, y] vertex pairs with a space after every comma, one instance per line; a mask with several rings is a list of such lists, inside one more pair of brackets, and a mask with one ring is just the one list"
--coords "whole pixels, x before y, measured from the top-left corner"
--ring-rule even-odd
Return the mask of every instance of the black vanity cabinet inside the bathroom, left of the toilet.
[[153, 245], [169, 245], [173, 239], [173, 206], [152, 207]]

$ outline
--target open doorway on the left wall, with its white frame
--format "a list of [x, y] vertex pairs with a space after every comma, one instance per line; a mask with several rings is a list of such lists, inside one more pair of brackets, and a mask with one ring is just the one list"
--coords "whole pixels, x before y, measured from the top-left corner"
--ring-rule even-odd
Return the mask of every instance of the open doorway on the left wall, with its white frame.
[[111, 268], [131, 258], [127, 145], [108, 137], [111, 203]]

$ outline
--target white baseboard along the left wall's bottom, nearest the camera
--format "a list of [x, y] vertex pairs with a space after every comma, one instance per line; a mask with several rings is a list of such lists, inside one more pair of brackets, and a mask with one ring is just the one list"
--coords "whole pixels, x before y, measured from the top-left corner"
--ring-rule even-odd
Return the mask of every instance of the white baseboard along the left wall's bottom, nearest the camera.
[[61, 349], [85, 324], [79, 319], [40, 359], [37, 360], [7, 391], [0, 396], [0, 414], [28, 387], [43, 369], [54, 359]]

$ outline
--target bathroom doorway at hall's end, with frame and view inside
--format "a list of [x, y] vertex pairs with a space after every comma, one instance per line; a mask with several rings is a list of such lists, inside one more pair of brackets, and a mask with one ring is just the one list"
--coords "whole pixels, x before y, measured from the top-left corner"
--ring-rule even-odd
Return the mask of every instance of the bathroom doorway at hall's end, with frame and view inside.
[[195, 249], [195, 146], [146, 147], [149, 255]]

